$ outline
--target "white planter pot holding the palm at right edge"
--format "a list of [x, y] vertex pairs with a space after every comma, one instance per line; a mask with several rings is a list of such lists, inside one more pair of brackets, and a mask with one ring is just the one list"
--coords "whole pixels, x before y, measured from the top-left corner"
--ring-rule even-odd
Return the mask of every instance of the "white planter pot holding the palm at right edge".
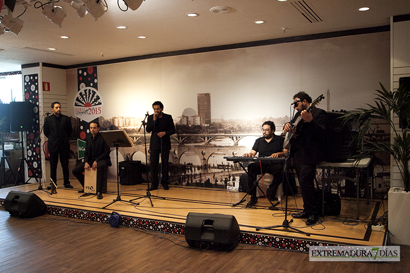
[[391, 187], [388, 191], [388, 230], [392, 243], [410, 245], [410, 192], [404, 187]]

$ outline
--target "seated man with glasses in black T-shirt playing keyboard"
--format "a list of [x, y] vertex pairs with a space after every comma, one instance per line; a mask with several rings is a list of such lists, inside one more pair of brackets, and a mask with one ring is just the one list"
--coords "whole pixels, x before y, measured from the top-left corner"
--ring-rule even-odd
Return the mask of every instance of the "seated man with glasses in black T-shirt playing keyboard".
[[[255, 157], [256, 153], [259, 153], [259, 157], [284, 157], [288, 150], [283, 149], [284, 138], [275, 135], [275, 123], [273, 121], [265, 121], [262, 124], [263, 137], [256, 139], [253, 145], [252, 151], [248, 154], [244, 154], [244, 157]], [[269, 186], [266, 195], [270, 200], [273, 200], [276, 190], [283, 178], [283, 165], [269, 162], [253, 162], [248, 166], [248, 194], [251, 195], [247, 207], [252, 207], [258, 202], [256, 197], [256, 185], [257, 175], [269, 173], [273, 175], [273, 180]]]

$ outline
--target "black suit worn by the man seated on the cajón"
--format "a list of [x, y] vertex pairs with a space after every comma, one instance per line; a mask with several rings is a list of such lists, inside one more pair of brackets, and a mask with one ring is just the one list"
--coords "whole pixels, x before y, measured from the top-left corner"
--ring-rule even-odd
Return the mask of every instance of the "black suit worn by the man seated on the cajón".
[[96, 191], [106, 192], [107, 166], [111, 166], [110, 147], [100, 133], [88, 136], [86, 139], [86, 152], [84, 153], [84, 162], [78, 164], [73, 169], [73, 175], [84, 187], [84, 165], [87, 162], [92, 167], [94, 161], [97, 162], [97, 184]]

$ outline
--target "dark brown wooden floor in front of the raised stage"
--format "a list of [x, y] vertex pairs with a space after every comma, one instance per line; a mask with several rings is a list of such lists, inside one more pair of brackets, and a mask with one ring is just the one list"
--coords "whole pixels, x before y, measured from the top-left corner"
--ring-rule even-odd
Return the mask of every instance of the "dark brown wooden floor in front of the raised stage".
[[[104, 200], [104, 199], [103, 199]], [[408, 272], [410, 248], [398, 263], [309, 262], [309, 255], [239, 244], [198, 251], [181, 236], [44, 215], [9, 217], [0, 207], [0, 272]]]

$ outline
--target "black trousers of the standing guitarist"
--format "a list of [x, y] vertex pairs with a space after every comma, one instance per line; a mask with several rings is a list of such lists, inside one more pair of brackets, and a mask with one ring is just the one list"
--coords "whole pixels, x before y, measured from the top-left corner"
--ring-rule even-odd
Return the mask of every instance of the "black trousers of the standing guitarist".
[[296, 174], [302, 192], [303, 209], [309, 214], [319, 213], [319, 202], [315, 198], [316, 163], [303, 163], [295, 160]]

